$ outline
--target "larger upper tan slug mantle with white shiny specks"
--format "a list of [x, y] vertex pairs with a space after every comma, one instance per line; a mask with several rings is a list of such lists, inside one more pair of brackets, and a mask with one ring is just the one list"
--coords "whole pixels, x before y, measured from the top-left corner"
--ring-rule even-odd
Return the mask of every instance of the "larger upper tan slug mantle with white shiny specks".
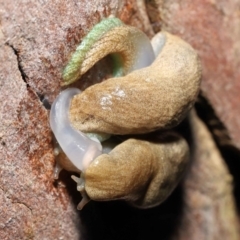
[[200, 64], [189, 44], [163, 34], [166, 43], [152, 65], [93, 85], [73, 98], [70, 120], [76, 129], [140, 134], [182, 121], [199, 92]]

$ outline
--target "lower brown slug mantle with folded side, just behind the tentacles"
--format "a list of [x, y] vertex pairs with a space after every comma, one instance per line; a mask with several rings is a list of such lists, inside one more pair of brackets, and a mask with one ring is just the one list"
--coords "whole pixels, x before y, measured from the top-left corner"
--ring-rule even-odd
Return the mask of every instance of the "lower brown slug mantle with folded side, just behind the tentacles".
[[171, 194], [188, 159], [188, 145], [175, 133], [154, 142], [128, 139], [89, 165], [85, 191], [96, 201], [123, 199], [136, 207], [153, 207]]

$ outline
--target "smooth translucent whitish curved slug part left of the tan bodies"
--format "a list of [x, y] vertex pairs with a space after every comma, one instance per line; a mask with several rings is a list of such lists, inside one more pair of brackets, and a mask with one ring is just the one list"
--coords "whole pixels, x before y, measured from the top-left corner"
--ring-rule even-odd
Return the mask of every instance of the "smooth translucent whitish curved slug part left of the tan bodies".
[[68, 118], [70, 102], [79, 93], [77, 88], [68, 88], [58, 95], [51, 107], [50, 126], [59, 146], [72, 164], [84, 171], [102, 154], [102, 145], [96, 138], [91, 139], [71, 126]]

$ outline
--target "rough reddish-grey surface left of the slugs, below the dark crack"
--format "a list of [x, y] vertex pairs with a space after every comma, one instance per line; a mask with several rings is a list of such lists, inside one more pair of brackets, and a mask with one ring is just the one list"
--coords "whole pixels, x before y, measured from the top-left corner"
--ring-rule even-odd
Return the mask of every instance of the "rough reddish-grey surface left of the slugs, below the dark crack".
[[22, 80], [14, 50], [2, 46], [0, 56], [0, 238], [77, 239], [75, 206], [54, 187], [47, 111]]

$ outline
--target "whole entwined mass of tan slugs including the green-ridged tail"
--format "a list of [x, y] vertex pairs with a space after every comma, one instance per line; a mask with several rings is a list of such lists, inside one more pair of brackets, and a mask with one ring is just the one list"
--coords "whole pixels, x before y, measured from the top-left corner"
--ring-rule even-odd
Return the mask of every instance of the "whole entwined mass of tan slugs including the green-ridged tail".
[[62, 85], [78, 80], [109, 54], [114, 60], [113, 78], [82, 93], [64, 90], [52, 106], [50, 122], [62, 149], [60, 165], [70, 163], [71, 171], [81, 173], [80, 178], [73, 176], [83, 196], [79, 209], [89, 199], [156, 206], [173, 191], [186, 168], [186, 141], [165, 133], [160, 141], [128, 139], [102, 154], [96, 138], [165, 131], [178, 125], [199, 92], [199, 59], [176, 36], [161, 32], [150, 42], [140, 30], [107, 18], [77, 47], [63, 71]]

